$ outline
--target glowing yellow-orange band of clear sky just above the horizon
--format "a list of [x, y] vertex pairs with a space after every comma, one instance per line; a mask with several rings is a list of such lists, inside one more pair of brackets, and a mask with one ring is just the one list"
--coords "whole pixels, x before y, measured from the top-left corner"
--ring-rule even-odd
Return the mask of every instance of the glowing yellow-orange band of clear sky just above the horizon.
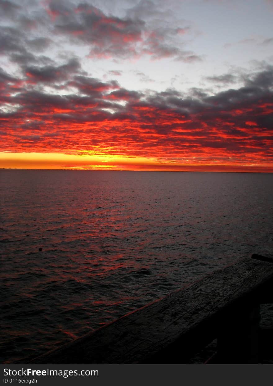
[[0, 152], [2, 169], [70, 169], [128, 171], [217, 171], [273, 173], [272, 164], [225, 164], [216, 162], [159, 162], [148, 157], [88, 156], [62, 153]]

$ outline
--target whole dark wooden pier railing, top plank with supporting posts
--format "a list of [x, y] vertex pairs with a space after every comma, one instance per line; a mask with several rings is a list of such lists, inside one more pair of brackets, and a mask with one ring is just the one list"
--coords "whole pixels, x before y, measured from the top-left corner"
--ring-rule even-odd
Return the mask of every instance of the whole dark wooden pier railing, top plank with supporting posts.
[[258, 363], [272, 286], [273, 258], [252, 255], [29, 363], [185, 364], [214, 339], [212, 363]]

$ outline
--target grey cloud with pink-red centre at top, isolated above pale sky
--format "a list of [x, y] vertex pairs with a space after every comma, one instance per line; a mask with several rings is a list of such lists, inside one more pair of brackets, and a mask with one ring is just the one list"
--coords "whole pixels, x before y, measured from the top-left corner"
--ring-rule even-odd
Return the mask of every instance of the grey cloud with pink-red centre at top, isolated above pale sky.
[[[131, 58], [147, 54], [154, 60], [169, 57], [188, 63], [201, 60], [194, 52], [181, 50], [174, 40], [175, 36], [185, 34], [189, 26], [160, 27], [164, 18], [156, 25], [147, 24], [142, 17], [146, 8], [153, 18], [164, 14], [155, 12], [155, 5], [149, 1], [128, 10], [126, 17], [106, 15], [88, 3], [75, 6], [64, 1], [50, 1], [47, 13], [56, 33], [68, 36], [71, 42], [88, 45], [91, 58]], [[144, 14], [147, 17], [148, 13]]]

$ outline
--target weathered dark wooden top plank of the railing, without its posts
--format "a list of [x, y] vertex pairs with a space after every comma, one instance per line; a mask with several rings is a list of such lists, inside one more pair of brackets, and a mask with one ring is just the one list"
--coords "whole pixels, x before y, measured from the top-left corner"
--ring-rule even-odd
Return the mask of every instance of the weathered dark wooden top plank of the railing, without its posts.
[[270, 262], [243, 259], [29, 363], [185, 363], [272, 279]]

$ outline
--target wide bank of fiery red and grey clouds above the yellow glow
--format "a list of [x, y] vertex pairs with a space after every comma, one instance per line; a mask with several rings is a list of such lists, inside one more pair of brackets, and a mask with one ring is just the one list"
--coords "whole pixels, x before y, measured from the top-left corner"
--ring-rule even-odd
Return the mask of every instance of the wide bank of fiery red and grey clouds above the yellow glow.
[[[59, 69], [66, 74], [66, 67]], [[61, 76], [52, 68], [40, 73], [44, 79]], [[3, 90], [18, 81], [2, 73]], [[79, 94], [24, 88], [15, 95], [7, 92], [0, 113], [1, 148], [142, 156], [174, 165], [272, 162], [273, 104], [268, 88], [257, 85], [212, 97], [203, 93], [194, 99], [175, 90], [145, 95], [84, 75], [72, 76], [66, 86], [74, 86]]]

